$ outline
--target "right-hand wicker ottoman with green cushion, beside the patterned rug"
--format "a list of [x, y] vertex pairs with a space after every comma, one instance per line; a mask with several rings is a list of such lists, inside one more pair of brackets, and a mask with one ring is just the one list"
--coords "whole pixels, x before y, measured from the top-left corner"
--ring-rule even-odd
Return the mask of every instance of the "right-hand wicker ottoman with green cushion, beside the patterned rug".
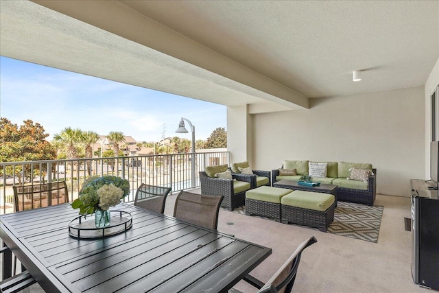
[[318, 228], [326, 232], [334, 220], [332, 194], [295, 190], [281, 199], [282, 222]]

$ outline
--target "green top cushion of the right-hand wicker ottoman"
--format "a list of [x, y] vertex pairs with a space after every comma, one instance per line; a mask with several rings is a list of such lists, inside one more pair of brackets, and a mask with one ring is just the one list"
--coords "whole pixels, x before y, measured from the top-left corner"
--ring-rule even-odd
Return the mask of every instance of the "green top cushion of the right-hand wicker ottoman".
[[295, 190], [281, 199], [281, 204], [302, 209], [313, 209], [315, 211], [326, 211], [334, 203], [332, 194], [321, 194], [320, 192]]

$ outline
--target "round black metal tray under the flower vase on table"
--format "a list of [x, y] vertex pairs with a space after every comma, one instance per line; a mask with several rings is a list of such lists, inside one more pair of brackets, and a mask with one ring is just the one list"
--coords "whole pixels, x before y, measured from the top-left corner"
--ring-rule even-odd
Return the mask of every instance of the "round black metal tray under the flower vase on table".
[[110, 211], [110, 225], [106, 227], [96, 228], [94, 214], [88, 218], [79, 215], [71, 220], [69, 235], [77, 239], [95, 239], [123, 233], [132, 226], [132, 215], [127, 211]]

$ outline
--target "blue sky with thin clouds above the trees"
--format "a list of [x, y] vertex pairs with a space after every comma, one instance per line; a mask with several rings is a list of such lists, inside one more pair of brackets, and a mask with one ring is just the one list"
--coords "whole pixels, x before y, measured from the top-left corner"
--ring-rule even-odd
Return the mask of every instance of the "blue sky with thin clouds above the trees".
[[195, 139], [226, 128], [226, 106], [3, 56], [0, 116], [18, 125], [38, 122], [49, 140], [66, 127], [101, 135], [119, 131], [137, 141], [158, 141], [165, 130], [165, 137], [190, 140], [190, 133], [175, 133], [181, 117], [195, 126]]

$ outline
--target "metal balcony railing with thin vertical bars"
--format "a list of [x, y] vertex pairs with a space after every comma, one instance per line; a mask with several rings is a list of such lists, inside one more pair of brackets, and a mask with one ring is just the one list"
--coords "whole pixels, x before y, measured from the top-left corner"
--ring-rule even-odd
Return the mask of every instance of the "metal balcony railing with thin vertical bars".
[[[195, 172], [191, 160], [195, 159]], [[198, 172], [209, 165], [230, 165], [229, 152], [157, 154], [151, 156], [119, 156], [113, 158], [25, 161], [0, 163], [0, 214], [14, 209], [14, 185], [33, 185], [64, 180], [69, 201], [78, 198], [86, 178], [112, 175], [130, 182], [131, 193], [124, 202], [134, 201], [142, 184], [171, 187], [172, 192], [200, 186]], [[195, 180], [192, 180], [195, 174]]]

